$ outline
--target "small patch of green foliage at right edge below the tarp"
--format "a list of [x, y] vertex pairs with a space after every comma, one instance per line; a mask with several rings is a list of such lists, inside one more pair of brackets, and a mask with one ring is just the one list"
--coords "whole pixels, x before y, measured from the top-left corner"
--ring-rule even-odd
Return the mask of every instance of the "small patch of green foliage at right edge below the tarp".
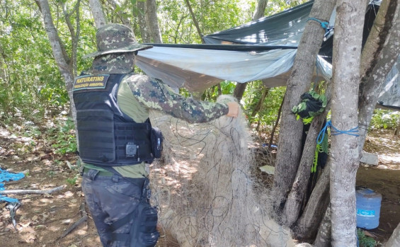
[[399, 126], [400, 112], [392, 110], [375, 109], [370, 127], [372, 129], [394, 130]]

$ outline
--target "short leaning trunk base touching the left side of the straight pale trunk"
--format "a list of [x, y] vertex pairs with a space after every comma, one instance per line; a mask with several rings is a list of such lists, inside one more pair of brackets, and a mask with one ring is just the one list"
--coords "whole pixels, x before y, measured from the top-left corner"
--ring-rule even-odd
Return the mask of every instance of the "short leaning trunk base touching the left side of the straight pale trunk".
[[330, 161], [326, 164], [319, 180], [316, 182], [309, 202], [304, 212], [293, 228], [295, 239], [314, 239], [318, 226], [324, 217], [329, 204], [329, 176], [331, 173]]

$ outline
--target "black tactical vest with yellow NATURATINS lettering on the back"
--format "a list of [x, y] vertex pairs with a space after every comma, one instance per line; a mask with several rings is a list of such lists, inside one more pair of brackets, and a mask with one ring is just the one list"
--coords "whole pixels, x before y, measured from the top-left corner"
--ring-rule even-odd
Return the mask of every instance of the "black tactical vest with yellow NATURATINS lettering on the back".
[[120, 110], [117, 93], [125, 74], [79, 76], [73, 93], [79, 156], [99, 166], [152, 163], [149, 120], [137, 123]]

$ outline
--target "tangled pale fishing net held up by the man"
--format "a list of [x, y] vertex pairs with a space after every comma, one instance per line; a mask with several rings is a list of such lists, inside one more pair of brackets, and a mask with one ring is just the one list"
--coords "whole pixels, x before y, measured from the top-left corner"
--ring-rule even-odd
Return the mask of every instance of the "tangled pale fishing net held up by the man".
[[[218, 102], [232, 100], [220, 96]], [[156, 111], [150, 117], [164, 134], [151, 180], [166, 238], [183, 247], [294, 246], [289, 231], [268, 217], [268, 188], [255, 176], [242, 113], [204, 124]]]

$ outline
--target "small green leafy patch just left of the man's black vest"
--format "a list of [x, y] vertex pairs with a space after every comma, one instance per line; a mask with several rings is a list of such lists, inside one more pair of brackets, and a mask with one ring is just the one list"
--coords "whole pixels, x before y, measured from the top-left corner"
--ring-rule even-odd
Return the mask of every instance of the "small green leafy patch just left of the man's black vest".
[[47, 131], [52, 147], [56, 154], [69, 154], [76, 151], [76, 137], [74, 121], [68, 117], [66, 121], [59, 123]]

